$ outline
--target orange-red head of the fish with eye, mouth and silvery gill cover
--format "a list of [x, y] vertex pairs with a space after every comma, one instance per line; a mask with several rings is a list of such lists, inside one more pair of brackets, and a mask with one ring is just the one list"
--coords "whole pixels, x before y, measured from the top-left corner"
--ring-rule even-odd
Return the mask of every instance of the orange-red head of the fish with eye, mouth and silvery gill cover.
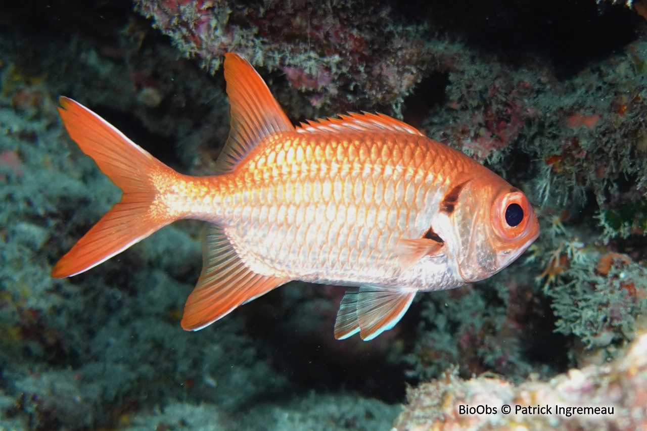
[[[448, 214], [446, 237], [465, 282], [484, 280], [515, 261], [539, 236], [527, 197], [499, 177], [468, 181]], [[442, 236], [442, 235], [441, 235]]]

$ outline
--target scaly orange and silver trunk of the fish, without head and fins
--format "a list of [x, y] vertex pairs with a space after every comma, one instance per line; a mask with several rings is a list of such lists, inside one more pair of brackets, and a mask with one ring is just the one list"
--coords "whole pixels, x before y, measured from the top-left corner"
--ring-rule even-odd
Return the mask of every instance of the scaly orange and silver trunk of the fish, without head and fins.
[[224, 227], [253, 272], [421, 291], [490, 275], [461, 274], [458, 265], [453, 271], [447, 265], [451, 250], [435, 254], [438, 265], [411, 265], [415, 276], [401, 261], [408, 251], [401, 239], [423, 238], [432, 225], [440, 238], [451, 235], [442, 232], [446, 214], [440, 208], [453, 184], [498, 178], [474, 160], [403, 132], [285, 132], [268, 141], [191, 199], [206, 206], [186, 208]]

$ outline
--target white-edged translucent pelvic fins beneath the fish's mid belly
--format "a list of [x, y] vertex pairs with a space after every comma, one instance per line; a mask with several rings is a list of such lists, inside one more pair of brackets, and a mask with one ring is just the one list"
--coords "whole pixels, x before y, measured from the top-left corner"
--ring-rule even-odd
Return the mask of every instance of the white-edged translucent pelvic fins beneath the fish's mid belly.
[[400, 321], [414, 296], [415, 292], [373, 286], [346, 292], [334, 324], [334, 337], [342, 340], [359, 332], [362, 340], [372, 340]]

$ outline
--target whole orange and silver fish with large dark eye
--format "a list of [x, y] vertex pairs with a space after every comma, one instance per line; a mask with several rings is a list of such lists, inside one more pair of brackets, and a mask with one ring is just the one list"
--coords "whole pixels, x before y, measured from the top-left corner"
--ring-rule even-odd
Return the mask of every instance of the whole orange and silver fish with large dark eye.
[[202, 329], [292, 280], [341, 285], [334, 337], [371, 340], [421, 291], [492, 276], [540, 233], [527, 197], [476, 160], [379, 113], [294, 126], [243, 57], [225, 54], [230, 133], [213, 175], [179, 173], [61, 96], [69, 136], [121, 200], [52, 269], [87, 271], [179, 219], [206, 221], [181, 326]]

